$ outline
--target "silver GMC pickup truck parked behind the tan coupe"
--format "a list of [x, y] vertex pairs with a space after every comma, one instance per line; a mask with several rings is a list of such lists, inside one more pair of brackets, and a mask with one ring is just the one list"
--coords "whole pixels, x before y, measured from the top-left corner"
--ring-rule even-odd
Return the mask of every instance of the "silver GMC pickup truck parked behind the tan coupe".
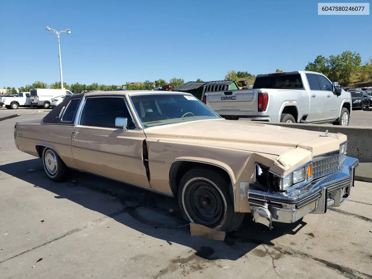
[[321, 73], [257, 75], [253, 89], [205, 93], [205, 103], [226, 119], [349, 125], [350, 92]]

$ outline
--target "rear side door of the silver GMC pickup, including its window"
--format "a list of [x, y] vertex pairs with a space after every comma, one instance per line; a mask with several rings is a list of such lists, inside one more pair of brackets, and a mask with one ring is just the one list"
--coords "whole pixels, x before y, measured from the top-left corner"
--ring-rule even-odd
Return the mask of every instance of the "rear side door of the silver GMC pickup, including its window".
[[307, 81], [310, 87], [310, 111], [309, 120], [317, 120], [324, 118], [326, 97], [320, 88], [316, 74], [306, 74]]

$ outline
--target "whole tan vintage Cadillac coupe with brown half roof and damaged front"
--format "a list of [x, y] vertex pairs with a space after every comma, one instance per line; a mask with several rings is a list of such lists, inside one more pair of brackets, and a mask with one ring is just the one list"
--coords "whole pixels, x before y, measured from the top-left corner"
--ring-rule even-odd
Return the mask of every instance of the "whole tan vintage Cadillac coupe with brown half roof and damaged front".
[[53, 181], [76, 169], [177, 196], [187, 220], [222, 231], [249, 212], [270, 229], [324, 214], [349, 198], [358, 166], [343, 134], [225, 120], [178, 92], [74, 94], [14, 137]]

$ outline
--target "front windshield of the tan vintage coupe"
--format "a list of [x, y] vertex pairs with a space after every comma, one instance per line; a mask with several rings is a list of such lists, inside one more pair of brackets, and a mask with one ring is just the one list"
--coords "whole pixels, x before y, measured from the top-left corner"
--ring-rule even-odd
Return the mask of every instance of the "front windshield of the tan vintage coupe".
[[194, 96], [140, 94], [130, 96], [145, 128], [201, 119], [221, 118]]

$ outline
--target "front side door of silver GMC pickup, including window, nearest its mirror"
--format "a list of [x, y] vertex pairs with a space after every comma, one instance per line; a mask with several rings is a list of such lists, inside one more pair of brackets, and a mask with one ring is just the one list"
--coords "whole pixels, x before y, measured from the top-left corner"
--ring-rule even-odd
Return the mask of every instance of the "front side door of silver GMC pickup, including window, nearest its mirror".
[[324, 118], [337, 118], [340, 112], [341, 98], [332, 91], [332, 83], [325, 76], [317, 74], [320, 89], [325, 96]]

